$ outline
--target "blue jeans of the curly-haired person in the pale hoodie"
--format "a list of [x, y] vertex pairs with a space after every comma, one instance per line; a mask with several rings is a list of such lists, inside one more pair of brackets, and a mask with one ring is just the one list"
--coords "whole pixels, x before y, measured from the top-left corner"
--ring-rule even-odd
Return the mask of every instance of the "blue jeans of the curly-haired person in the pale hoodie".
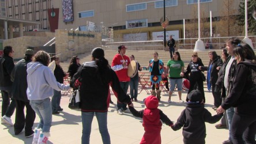
[[50, 98], [46, 98], [44, 100], [31, 100], [30, 105], [40, 118], [37, 128], [42, 128], [43, 132], [50, 132], [52, 122]]

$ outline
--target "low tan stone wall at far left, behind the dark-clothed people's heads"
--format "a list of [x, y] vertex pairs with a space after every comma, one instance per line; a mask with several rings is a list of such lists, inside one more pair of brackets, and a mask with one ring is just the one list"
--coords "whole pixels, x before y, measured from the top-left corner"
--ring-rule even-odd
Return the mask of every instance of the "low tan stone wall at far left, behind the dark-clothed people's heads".
[[22, 59], [27, 47], [39, 47], [51, 40], [52, 37], [40, 36], [22, 36], [14, 39], [3, 41], [3, 47], [12, 46], [14, 51], [14, 59]]

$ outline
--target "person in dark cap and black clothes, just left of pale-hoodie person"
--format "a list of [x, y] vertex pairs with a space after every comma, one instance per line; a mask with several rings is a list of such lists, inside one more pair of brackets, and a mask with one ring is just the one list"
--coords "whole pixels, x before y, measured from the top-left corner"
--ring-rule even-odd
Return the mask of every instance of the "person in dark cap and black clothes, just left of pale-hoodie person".
[[[25, 128], [26, 138], [33, 136], [34, 131], [32, 129], [36, 118], [36, 113], [29, 104], [27, 96], [27, 64], [32, 62], [33, 55], [34, 51], [27, 49], [24, 58], [16, 63], [11, 74], [11, 81], [13, 81], [12, 98], [16, 101], [14, 134], [20, 134]], [[26, 107], [26, 115], [24, 107]]]

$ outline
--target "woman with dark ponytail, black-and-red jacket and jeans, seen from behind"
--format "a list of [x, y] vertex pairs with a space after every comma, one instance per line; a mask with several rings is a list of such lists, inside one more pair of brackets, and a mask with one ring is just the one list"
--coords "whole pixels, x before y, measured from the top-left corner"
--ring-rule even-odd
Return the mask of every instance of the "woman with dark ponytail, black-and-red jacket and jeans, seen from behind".
[[110, 86], [120, 103], [131, 103], [131, 98], [121, 88], [115, 71], [104, 58], [104, 50], [100, 47], [92, 50], [92, 61], [85, 62], [74, 74], [74, 88], [80, 87], [82, 144], [89, 143], [93, 116], [96, 115], [103, 143], [110, 142], [107, 128], [107, 113], [110, 105]]

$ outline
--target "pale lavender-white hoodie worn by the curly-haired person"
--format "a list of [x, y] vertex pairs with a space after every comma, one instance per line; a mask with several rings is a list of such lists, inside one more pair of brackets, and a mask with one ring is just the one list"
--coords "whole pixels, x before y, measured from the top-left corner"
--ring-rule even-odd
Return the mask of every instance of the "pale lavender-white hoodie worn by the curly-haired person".
[[43, 100], [54, 95], [54, 90], [68, 90], [69, 85], [59, 84], [51, 70], [39, 62], [27, 65], [28, 100]]

